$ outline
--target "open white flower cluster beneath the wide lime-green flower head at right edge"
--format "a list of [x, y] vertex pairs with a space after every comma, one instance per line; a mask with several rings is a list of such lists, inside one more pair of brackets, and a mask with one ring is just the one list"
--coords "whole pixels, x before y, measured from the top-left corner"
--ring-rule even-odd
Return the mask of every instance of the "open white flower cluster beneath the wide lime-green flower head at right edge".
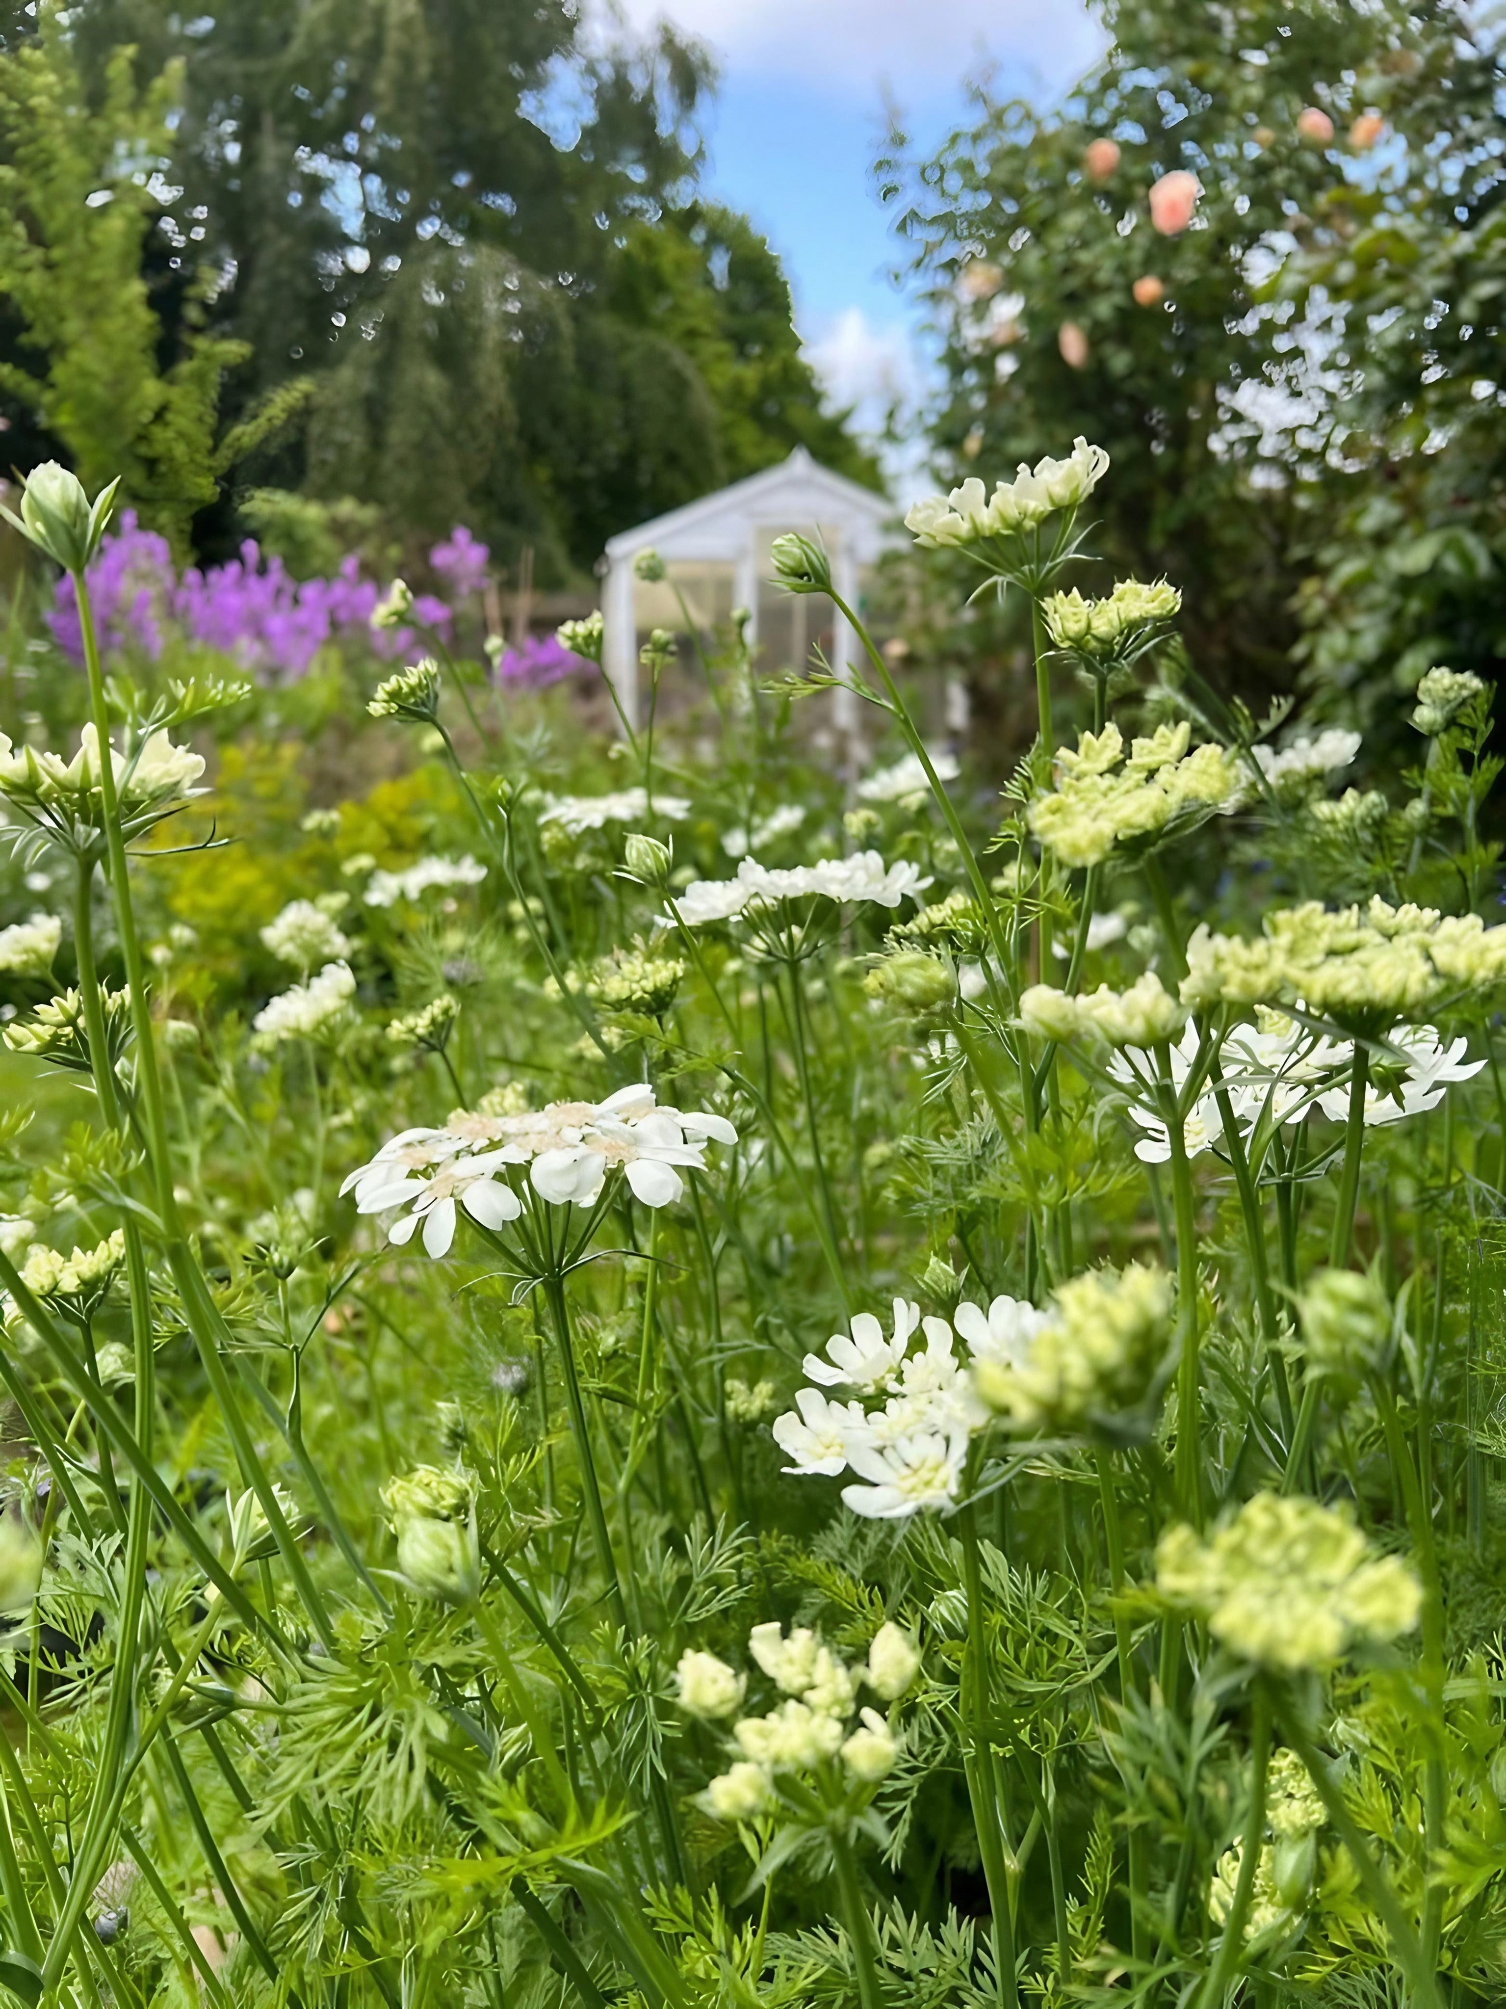
[[[1400, 1123], [1402, 1117], [1426, 1115], [1436, 1109], [1450, 1085], [1470, 1081], [1486, 1065], [1466, 1061], [1470, 1043], [1456, 1039], [1444, 1047], [1432, 1025], [1400, 1027], [1392, 1045], [1406, 1055], [1406, 1067], [1392, 1079], [1371, 1077], [1365, 1083], [1365, 1125]], [[1187, 1029], [1171, 1049], [1171, 1079], [1177, 1091], [1185, 1085], [1197, 1059], [1197, 1031]], [[1349, 1069], [1353, 1041], [1313, 1033], [1285, 1013], [1255, 1009], [1255, 1025], [1237, 1025], [1223, 1043], [1219, 1067], [1229, 1113], [1241, 1137], [1249, 1141], [1267, 1115], [1273, 1123], [1299, 1123], [1319, 1109], [1335, 1123], [1349, 1115]], [[1167, 1123], [1155, 1103], [1143, 1095], [1143, 1083], [1155, 1079], [1155, 1059], [1126, 1047], [1108, 1063], [1108, 1073], [1139, 1095], [1131, 1101], [1131, 1117], [1145, 1131], [1135, 1145], [1143, 1165], [1165, 1165], [1171, 1157]], [[1223, 1117], [1213, 1087], [1205, 1087], [1183, 1121], [1187, 1155], [1197, 1157], [1223, 1139]]]

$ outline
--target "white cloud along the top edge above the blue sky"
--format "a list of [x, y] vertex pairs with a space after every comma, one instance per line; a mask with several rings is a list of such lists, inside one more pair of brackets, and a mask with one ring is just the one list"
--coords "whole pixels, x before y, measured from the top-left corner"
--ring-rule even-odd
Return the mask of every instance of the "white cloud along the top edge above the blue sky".
[[616, 0], [635, 28], [661, 16], [729, 64], [843, 96], [875, 84], [902, 104], [954, 88], [990, 56], [1046, 84], [1092, 62], [1102, 34], [1082, 0]]

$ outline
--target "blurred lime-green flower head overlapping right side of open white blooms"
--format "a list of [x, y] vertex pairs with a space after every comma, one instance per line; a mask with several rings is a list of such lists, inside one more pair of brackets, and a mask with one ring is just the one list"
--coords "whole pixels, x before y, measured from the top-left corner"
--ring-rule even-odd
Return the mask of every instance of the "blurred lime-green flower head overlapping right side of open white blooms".
[[1163, 1270], [1086, 1270], [1024, 1346], [978, 1360], [974, 1386], [1018, 1430], [1076, 1434], [1145, 1404], [1169, 1324]]

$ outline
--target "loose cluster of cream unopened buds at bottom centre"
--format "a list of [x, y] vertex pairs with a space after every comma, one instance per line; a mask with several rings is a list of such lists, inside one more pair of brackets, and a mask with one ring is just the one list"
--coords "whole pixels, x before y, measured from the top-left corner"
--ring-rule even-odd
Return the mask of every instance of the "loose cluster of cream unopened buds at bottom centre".
[[[867, 1649], [867, 1665], [843, 1665], [831, 1647], [805, 1625], [783, 1635], [777, 1623], [755, 1625], [747, 1649], [761, 1671], [787, 1700], [765, 1716], [743, 1716], [733, 1724], [727, 1772], [707, 1786], [701, 1804], [715, 1820], [753, 1820], [779, 1806], [779, 1778], [789, 1772], [819, 1772], [841, 1762], [849, 1788], [875, 1786], [900, 1754], [894, 1724], [880, 1710], [857, 1712], [857, 1694], [867, 1686], [880, 1702], [896, 1704], [920, 1673], [920, 1649], [894, 1621], [880, 1625]], [[687, 1716], [719, 1722], [743, 1708], [747, 1676], [715, 1653], [687, 1651], [675, 1669], [679, 1702]]]

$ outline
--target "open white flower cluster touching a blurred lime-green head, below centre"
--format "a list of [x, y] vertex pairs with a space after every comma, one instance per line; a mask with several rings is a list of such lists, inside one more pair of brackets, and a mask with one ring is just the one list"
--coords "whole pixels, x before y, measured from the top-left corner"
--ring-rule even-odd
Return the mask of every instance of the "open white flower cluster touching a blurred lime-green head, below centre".
[[[896, 1298], [886, 1338], [877, 1318], [859, 1312], [847, 1332], [827, 1340], [825, 1356], [805, 1354], [815, 1386], [801, 1388], [795, 1408], [773, 1424], [773, 1440], [789, 1459], [785, 1471], [853, 1471], [865, 1483], [843, 1487], [841, 1499], [869, 1521], [944, 1513], [958, 1497], [968, 1440], [988, 1422], [972, 1370], [982, 1360], [1020, 1356], [1044, 1324], [1044, 1312], [1014, 1298], [994, 1298], [988, 1312], [960, 1304], [952, 1322], [922, 1320], [920, 1306]], [[912, 1352], [916, 1332], [924, 1346]], [[968, 1344], [966, 1358], [956, 1354], [956, 1334]], [[851, 1396], [837, 1402], [825, 1388], [847, 1388]]]

